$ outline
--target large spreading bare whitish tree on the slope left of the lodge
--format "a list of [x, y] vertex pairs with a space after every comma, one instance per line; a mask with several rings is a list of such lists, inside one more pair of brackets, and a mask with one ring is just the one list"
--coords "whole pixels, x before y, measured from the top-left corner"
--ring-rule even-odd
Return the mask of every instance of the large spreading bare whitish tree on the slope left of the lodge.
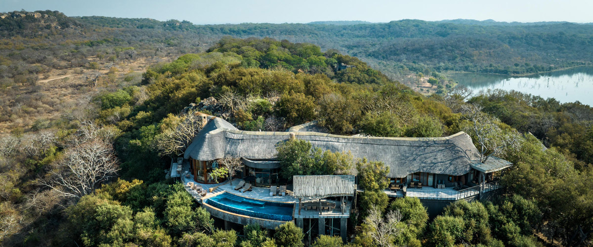
[[119, 162], [113, 145], [94, 139], [69, 147], [64, 158], [54, 162], [48, 174], [38, 181], [62, 197], [80, 198], [116, 177], [117, 171]]

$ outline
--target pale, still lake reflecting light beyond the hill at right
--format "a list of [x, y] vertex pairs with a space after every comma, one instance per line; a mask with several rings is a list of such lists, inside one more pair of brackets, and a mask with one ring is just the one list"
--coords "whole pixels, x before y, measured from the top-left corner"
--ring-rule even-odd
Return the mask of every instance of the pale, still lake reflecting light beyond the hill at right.
[[593, 105], [593, 67], [577, 67], [529, 76], [451, 73], [449, 78], [479, 92], [503, 89], [555, 98], [562, 103], [580, 101]]

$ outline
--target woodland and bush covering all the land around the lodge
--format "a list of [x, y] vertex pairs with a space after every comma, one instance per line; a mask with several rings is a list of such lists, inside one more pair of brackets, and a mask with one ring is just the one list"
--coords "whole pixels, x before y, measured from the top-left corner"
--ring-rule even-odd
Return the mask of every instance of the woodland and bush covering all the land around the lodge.
[[[350, 242], [320, 236], [312, 246], [591, 245], [591, 107], [518, 92], [471, 97], [461, 87], [425, 96], [393, 80], [413, 72], [438, 84], [445, 70], [529, 73], [589, 64], [591, 25], [193, 25], [43, 13], [0, 19], [2, 27], [18, 26], [0, 30], [0, 123], [9, 123], [0, 136], [4, 245], [304, 246], [292, 223], [270, 231], [218, 229], [181, 184], [165, 179], [170, 159], [187, 145], [170, 149], [167, 141], [188, 123], [195, 127], [188, 121], [193, 111], [254, 131], [308, 121], [346, 135], [466, 131], [484, 147], [484, 158], [514, 163], [501, 177], [503, 197], [459, 201], [428, 219], [417, 198], [387, 198], [388, 167], [372, 157], [354, 160], [307, 142], [279, 147], [286, 157], [297, 149], [308, 161], [283, 162], [298, 172], [342, 174], [355, 167], [365, 190], [357, 195]], [[58, 25], [40, 25], [39, 18]], [[123, 71], [138, 61], [149, 66]], [[80, 80], [69, 84], [71, 73]], [[39, 80], [45, 75], [60, 79]], [[45, 92], [56, 88], [72, 90], [75, 101]], [[476, 126], [489, 130], [487, 142], [478, 143], [484, 138], [477, 138]], [[90, 165], [101, 172], [85, 169]], [[80, 172], [89, 179], [79, 179]], [[394, 234], [375, 238], [385, 231]]]

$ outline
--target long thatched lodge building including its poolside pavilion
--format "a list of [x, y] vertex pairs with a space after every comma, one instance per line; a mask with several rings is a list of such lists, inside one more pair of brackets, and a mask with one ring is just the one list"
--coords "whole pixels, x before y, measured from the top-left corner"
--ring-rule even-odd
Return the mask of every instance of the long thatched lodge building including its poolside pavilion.
[[[186, 181], [199, 183], [202, 187], [212, 187], [222, 182], [213, 179], [209, 173], [218, 167], [217, 160], [225, 156], [242, 158], [244, 169], [237, 178], [250, 181], [254, 188], [269, 190], [267, 188], [281, 185], [278, 176], [281, 168], [280, 163], [276, 161], [276, 146], [279, 142], [297, 138], [307, 140], [322, 150], [349, 151], [355, 158], [384, 162], [390, 168], [390, 187], [385, 188], [385, 193], [390, 197], [419, 197], [428, 208], [429, 214], [434, 215], [452, 201], [477, 200], [492, 194], [498, 189], [498, 184], [493, 181], [493, 174], [511, 166], [508, 161], [495, 157], [490, 157], [486, 163], [479, 162], [479, 152], [471, 137], [463, 132], [433, 138], [340, 136], [321, 133], [313, 123], [295, 126], [285, 132], [243, 131], [219, 117], [203, 115], [202, 118], [205, 126], [184, 153], [183, 158], [187, 163], [184, 168], [185, 175], [182, 177]], [[333, 234], [345, 237], [345, 226], [340, 224], [346, 224], [347, 220], [340, 219], [349, 217], [351, 199], [356, 194], [355, 176], [350, 176], [347, 180], [341, 177], [331, 177], [333, 180], [315, 177], [317, 176], [295, 176], [292, 184], [288, 185], [289, 194], [295, 204], [292, 218], [299, 226], [305, 228], [312, 228], [315, 222], [303, 219], [318, 221], [326, 218], [324, 224], [318, 221], [318, 227], [315, 228], [318, 229], [318, 233], [328, 233], [328, 229], [333, 232], [333, 229], [337, 229], [338, 233]], [[353, 188], [343, 184], [350, 179]], [[332, 184], [331, 181], [336, 183]], [[226, 193], [236, 193], [232, 189], [229, 190], [228, 185], [225, 186]], [[221, 188], [224, 186], [216, 188], [218, 193], [221, 193]], [[211, 192], [216, 193], [216, 189]], [[340, 193], [331, 194], [331, 191]], [[255, 194], [241, 193], [241, 196], [262, 199], [257, 198]], [[314, 196], [308, 196], [310, 194]], [[311, 200], [326, 197], [340, 200], [339, 205], [344, 206], [336, 207], [331, 218], [330, 214], [321, 212], [314, 216], [311, 210], [303, 207], [303, 203], [299, 203], [303, 199], [312, 203]], [[279, 197], [264, 200], [280, 200], [276, 198]], [[323, 204], [318, 208], [324, 208]], [[307, 216], [302, 216], [303, 211], [307, 211]], [[216, 215], [219, 213], [221, 212], [216, 212]], [[337, 221], [333, 222], [331, 219]]]

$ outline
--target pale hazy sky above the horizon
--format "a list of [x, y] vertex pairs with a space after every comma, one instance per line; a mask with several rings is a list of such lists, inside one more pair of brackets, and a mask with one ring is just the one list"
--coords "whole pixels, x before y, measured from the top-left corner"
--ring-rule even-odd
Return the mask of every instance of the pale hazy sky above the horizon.
[[0, 12], [58, 10], [68, 16], [187, 20], [194, 24], [311, 21], [570, 21], [593, 23], [591, 0], [0, 0]]

